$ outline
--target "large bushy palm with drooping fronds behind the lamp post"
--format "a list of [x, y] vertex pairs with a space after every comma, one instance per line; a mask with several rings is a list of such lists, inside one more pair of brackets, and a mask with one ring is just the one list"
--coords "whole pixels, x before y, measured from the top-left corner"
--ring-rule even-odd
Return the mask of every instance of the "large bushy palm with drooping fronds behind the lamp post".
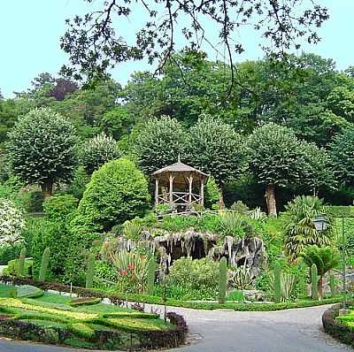
[[313, 218], [324, 212], [323, 202], [316, 196], [297, 196], [286, 206], [282, 219], [285, 229], [284, 248], [289, 261], [294, 262], [309, 245], [327, 246], [330, 244], [331, 220], [327, 219], [327, 230], [316, 230]]

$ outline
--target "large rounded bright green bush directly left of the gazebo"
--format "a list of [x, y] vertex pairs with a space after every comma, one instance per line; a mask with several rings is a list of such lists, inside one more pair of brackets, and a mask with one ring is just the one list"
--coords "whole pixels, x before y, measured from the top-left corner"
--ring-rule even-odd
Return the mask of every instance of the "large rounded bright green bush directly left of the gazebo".
[[76, 224], [104, 231], [149, 207], [148, 183], [142, 172], [124, 158], [112, 160], [93, 173], [79, 203]]

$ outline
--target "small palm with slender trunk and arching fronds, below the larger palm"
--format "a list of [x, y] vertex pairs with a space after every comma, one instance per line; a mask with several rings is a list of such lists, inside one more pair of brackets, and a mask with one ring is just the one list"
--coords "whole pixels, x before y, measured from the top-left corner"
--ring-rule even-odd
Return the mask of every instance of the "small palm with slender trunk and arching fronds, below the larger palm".
[[323, 297], [323, 277], [326, 272], [335, 269], [340, 263], [340, 255], [338, 249], [331, 247], [319, 247], [316, 245], [308, 246], [301, 254], [304, 258], [304, 263], [309, 267], [316, 264], [319, 274], [319, 298]]

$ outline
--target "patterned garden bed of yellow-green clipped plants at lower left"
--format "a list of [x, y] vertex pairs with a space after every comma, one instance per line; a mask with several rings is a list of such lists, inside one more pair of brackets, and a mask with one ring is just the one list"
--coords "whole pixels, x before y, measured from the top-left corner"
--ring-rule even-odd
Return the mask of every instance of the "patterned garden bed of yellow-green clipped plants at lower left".
[[[0, 290], [0, 293], [10, 293]], [[168, 313], [156, 314], [97, 303], [73, 307], [67, 296], [38, 298], [0, 296], [0, 334], [19, 340], [81, 348], [131, 350], [175, 348], [185, 341], [187, 325]]]

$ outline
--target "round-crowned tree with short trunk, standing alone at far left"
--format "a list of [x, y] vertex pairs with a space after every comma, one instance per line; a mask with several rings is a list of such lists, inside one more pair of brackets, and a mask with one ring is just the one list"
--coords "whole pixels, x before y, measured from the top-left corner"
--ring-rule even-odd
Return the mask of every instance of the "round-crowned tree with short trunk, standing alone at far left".
[[13, 172], [27, 184], [38, 184], [46, 197], [53, 184], [69, 181], [76, 165], [73, 125], [49, 108], [29, 111], [9, 133]]

